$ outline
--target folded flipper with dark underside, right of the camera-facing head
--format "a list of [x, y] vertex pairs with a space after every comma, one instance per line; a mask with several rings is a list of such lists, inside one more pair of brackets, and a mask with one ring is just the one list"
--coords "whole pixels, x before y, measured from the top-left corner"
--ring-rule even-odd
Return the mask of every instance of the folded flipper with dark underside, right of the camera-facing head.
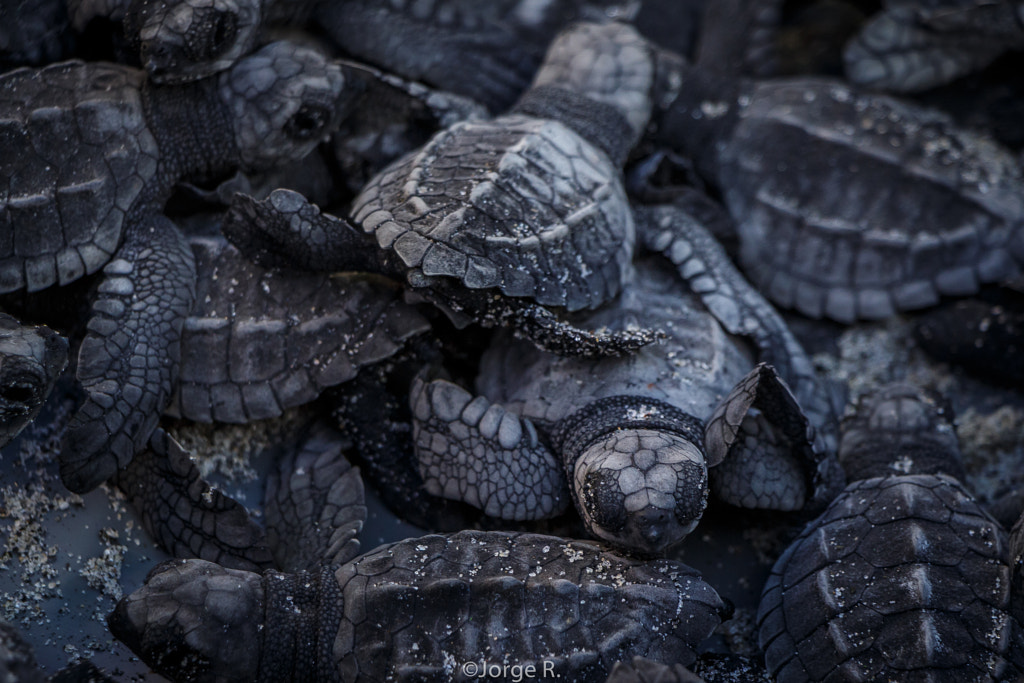
[[817, 510], [844, 484], [835, 454], [815, 447], [814, 428], [793, 392], [764, 362], [715, 409], [705, 445], [712, 490], [740, 507]]

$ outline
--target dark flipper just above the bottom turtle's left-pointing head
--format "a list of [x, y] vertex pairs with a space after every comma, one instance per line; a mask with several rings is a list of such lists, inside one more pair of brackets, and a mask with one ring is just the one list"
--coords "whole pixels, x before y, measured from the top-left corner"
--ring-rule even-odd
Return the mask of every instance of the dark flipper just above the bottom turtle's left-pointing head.
[[248, 571], [273, 566], [262, 527], [245, 507], [204, 481], [188, 454], [163, 429], [115, 481], [142, 527], [171, 555]]

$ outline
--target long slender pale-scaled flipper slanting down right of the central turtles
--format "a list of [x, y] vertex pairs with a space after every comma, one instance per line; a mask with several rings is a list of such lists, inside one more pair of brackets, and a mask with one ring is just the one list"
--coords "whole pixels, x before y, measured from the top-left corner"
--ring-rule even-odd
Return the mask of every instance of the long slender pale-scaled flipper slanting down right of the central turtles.
[[[723, 209], [724, 211], [724, 209]], [[831, 396], [778, 311], [754, 289], [711, 233], [673, 205], [636, 207], [637, 231], [665, 254], [729, 333], [746, 337], [796, 395], [816, 430], [818, 446], [835, 452], [838, 421]]]

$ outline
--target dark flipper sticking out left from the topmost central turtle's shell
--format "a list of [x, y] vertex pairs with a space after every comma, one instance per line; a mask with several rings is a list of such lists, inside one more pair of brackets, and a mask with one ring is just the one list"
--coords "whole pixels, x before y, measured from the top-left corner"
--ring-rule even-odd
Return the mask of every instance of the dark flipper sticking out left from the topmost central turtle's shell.
[[262, 201], [236, 195], [222, 230], [265, 267], [384, 271], [379, 250], [361, 232], [290, 189], [275, 189]]

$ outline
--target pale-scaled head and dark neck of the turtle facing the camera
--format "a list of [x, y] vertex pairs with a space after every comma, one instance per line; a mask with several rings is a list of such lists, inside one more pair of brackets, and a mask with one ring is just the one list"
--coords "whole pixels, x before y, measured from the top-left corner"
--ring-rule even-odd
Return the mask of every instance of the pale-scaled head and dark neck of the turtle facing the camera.
[[658, 400], [612, 396], [566, 418], [553, 438], [595, 537], [658, 555], [696, 527], [708, 503], [696, 418]]

